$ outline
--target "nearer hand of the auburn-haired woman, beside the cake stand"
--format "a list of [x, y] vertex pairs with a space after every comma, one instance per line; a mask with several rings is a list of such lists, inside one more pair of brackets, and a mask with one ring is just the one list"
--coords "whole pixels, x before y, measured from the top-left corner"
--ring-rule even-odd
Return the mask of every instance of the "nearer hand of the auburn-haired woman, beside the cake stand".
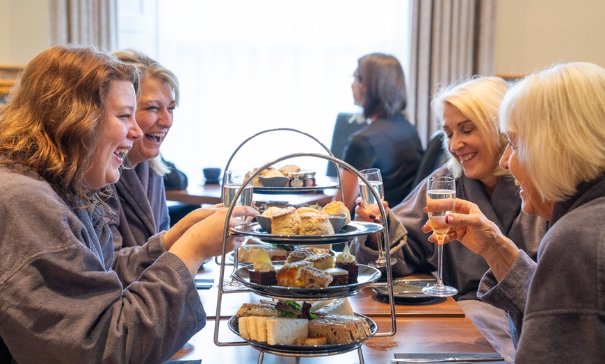
[[[169, 251], [181, 258], [187, 265], [191, 276], [195, 276], [204, 260], [223, 254], [227, 210], [227, 208], [217, 208], [214, 213], [204, 220], [193, 224], [170, 247]], [[242, 223], [242, 220], [235, 217], [253, 217], [256, 215], [258, 215], [258, 211], [250, 206], [236, 206], [232, 211], [229, 227]], [[164, 236], [166, 237], [166, 234]], [[243, 236], [227, 239], [227, 251], [239, 248], [243, 240]]]

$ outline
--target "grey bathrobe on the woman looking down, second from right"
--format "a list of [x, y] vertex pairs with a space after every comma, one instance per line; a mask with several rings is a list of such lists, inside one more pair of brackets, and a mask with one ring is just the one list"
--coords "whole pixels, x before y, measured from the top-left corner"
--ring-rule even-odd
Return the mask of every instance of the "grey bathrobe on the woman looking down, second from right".
[[[432, 175], [451, 176], [451, 172], [442, 167]], [[485, 216], [496, 223], [508, 238], [535, 259], [538, 244], [547, 229], [547, 221], [522, 212], [521, 198], [512, 177], [500, 177], [490, 198], [487, 197], [481, 181], [462, 176], [456, 179], [456, 197], [477, 204]], [[420, 230], [428, 220], [423, 210], [425, 206], [426, 180], [389, 213], [387, 221], [391, 252], [392, 256], [398, 259], [393, 267], [394, 276], [437, 270], [437, 245], [428, 241], [430, 233]], [[375, 259], [378, 255], [378, 251], [369, 249], [364, 242], [365, 238], [360, 238], [351, 247], [351, 251], [361, 263]], [[459, 293], [454, 298], [467, 317], [494, 349], [506, 361], [512, 362], [515, 346], [510, 337], [506, 313], [477, 299], [479, 281], [488, 269], [485, 259], [460, 242], [450, 242], [444, 245], [443, 250], [444, 282], [458, 288]]]

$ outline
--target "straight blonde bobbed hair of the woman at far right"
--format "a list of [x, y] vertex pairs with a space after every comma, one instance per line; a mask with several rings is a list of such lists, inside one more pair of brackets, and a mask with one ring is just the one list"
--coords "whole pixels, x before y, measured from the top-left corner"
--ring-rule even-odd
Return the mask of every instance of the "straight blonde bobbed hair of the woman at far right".
[[516, 135], [519, 166], [542, 201], [563, 201], [605, 171], [605, 69], [554, 65], [506, 94], [500, 127]]

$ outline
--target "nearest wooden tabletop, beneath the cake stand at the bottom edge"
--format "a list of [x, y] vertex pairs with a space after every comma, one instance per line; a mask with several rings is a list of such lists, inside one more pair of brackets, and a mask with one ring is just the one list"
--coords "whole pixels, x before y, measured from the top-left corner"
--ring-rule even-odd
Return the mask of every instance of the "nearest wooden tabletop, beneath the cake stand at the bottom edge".
[[[387, 331], [391, 325], [389, 317], [371, 317], [379, 331]], [[481, 335], [471, 320], [449, 317], [397, 317], [397, 333], [394, 336], [371, 338], [362, 345], [364, 362], [367, 364], [389, 363], [396, 353], [416, 352], [494, 352], [489, 342]], [[250, 345], [223, 346], [213, 344], [214, 320], [189, 340], [179, 360], [201, 359], [202, 363], [257, 363], [259, 351]], [[239, 341], [228, 329], [227, 320], [220, 322], [221, 342]], [[357, 350], [336, 356], [292, 358], [265, 354], [263, 363], [359, 363]]]

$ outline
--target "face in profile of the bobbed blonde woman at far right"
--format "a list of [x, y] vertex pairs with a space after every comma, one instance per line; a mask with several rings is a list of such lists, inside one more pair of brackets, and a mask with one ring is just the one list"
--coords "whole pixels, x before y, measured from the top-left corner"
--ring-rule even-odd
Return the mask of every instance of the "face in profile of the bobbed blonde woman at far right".
[[510, 174], [515, 177], [515, 184], [519, 185], [519, 196], [521, 196], [521, 209], [523, 212], [527, 215], [538, 215], [546, 220], [550, 220], [554, 202], [542, 202], [535, 185], [527, 178], [526, 170], [519, 164], [516, 139], [516, 135], [513, 133], [508, 135], [509, 142], [502, 158], [500, 158], [500, 166], [510, 170]]

